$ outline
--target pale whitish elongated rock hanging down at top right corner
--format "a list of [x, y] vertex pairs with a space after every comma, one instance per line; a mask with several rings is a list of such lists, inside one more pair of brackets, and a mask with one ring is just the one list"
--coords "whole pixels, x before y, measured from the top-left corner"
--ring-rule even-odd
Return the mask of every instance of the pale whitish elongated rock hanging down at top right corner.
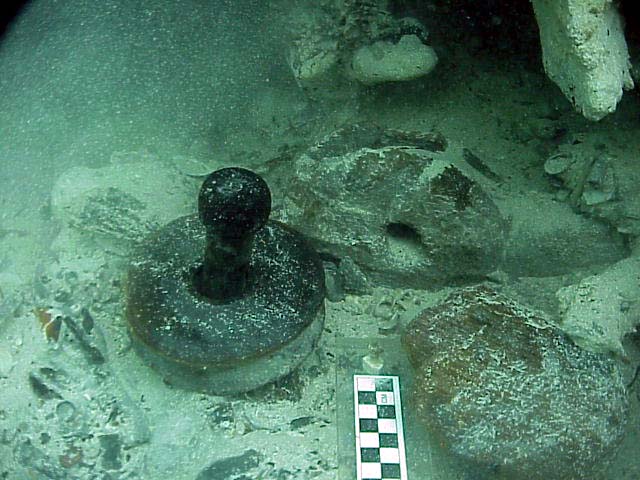
[[611, 0], [532, 0], [549, 78], [590, 120], [616, 109], [633, 88], [629, 53]]

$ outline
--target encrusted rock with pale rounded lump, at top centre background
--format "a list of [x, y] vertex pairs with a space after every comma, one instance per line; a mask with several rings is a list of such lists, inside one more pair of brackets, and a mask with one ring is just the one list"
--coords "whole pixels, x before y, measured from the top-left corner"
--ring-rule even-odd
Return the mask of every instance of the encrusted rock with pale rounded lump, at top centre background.
[[[303, 2], [289, 10], [287, 60], [298, 85], [312, 98], [357, 96], [359, 84], [411, 80], [437, 62], [416, 18], [396, 18], [387, 0]], [[358, 82], [353, 82], [356, 79]]]

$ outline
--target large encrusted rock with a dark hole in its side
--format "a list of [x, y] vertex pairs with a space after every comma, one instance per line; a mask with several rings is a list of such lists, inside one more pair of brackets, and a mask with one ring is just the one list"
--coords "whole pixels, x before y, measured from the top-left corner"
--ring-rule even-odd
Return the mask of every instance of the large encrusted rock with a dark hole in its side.
[[461, 157], [438, 134], [345, 127], [295, 160], [278, 216], [381, 284], [477, 279], [507, 225]]

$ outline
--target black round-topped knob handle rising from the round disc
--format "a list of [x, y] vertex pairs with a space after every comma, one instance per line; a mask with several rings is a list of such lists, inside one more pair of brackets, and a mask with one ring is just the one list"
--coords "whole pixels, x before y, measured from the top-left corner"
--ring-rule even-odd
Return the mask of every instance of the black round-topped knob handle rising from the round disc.
[[269, 187], [245, 168], [217, 170], [200, 188], [198, 212], [207, 242], [196, 289], [218, 303], [238, 298], [247, 286], [253, 239], [271, 213]]

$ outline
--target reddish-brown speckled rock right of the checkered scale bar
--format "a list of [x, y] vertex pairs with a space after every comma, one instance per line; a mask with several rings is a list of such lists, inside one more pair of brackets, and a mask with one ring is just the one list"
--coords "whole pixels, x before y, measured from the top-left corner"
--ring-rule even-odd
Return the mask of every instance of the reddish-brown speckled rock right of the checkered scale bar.
[[453, 454], [500, 478], [594, 478], [622, 438], [617, 364], [486, 287], [425, 310], [403, 342], [418, 417]]

